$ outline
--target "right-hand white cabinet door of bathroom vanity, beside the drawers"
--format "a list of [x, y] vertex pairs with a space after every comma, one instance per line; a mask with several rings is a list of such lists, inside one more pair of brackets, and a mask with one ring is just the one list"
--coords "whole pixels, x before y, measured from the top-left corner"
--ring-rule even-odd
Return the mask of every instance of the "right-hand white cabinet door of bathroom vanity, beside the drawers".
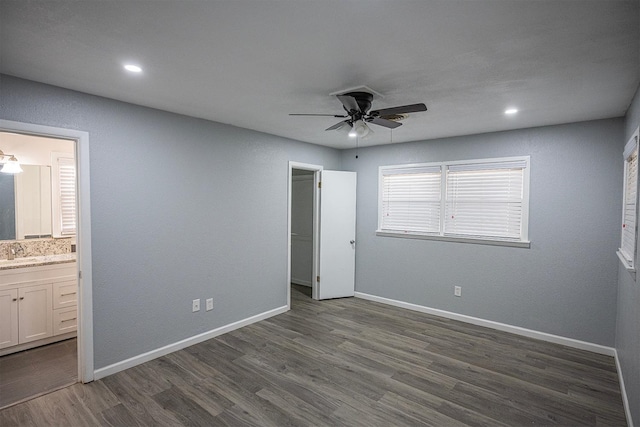
[[53, 335], [51, 284], [18, 289], [20, 344]]

